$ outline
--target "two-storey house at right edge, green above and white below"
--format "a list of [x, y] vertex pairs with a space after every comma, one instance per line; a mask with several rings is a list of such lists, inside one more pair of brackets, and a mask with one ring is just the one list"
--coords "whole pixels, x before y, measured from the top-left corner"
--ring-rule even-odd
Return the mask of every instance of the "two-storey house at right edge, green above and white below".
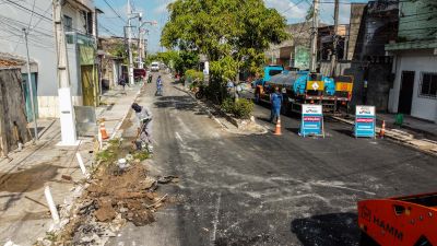
[[437, 122], [437, 15], [434, 0], [400, 2], [398, 42], [386, 45], [394, 56], [389, 110]]

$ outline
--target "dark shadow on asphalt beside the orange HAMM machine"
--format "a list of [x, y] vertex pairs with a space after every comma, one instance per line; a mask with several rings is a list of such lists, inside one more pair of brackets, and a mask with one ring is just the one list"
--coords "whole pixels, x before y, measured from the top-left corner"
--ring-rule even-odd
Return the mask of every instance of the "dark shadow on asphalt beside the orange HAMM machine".
[[359, 243], [355, 213], [328, 213], [293, 220], [292, 232], [304, 246], [351, 246]]

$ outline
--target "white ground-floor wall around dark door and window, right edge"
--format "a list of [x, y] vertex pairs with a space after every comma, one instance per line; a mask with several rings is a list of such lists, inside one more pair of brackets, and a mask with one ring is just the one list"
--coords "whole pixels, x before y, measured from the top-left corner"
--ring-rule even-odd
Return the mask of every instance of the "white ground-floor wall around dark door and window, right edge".
[[422, 72], [437, 72], [437, 56], [432, 50], [403, 51], [398, 55], [393, 66], [395, 79], [390, 92], [389, 110], [398, 112], [402, 71], [415, 71], [411, 115], [437, 122], [437, 98], [420, 96]]

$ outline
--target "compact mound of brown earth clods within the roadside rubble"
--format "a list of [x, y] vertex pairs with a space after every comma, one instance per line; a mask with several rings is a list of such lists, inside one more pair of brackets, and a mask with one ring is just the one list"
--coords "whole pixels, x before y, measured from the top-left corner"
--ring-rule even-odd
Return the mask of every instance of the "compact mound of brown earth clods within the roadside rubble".
[[122, 219], [141, 226], [153, 222], [152, 213], [165, 202], [156, 189], [157, 180], [146, 176], [141, 164], [133, 164], [119, 175], [110, 171], [99, 175], [84, 197], [86, 204], [95, 209], [96, 221], [110, 222], [120, 213]]

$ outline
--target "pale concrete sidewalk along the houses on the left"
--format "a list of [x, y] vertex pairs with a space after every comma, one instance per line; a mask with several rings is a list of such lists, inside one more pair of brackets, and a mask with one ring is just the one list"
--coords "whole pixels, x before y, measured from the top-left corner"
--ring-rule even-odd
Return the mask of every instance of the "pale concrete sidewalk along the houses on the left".
[[[111, 91], [102, 96], [110, 104], [98, 107], [96, 115], [97, 119], [107, 120], [109, 136], [120, 127], [139, 90], [127, 87], [127, 94]], [[80, 138], [79, 147], [60, 148], [56, 145], [61, 140], [59, 119], [39, 120], [38, 128], [43, 130], [36, 144], [31, 142], [23, 151], [10, 153], [12, 161], [0, 159], [0, 245], [9, 239], [22, 246], [32, 245], [45, 236], [51, 225], [45, 186], [50, 186], [55, 202], [62, 204], [83, 178], [75, 153], [81, 153], [86, 166], [92, 164], [93, 138]]]

